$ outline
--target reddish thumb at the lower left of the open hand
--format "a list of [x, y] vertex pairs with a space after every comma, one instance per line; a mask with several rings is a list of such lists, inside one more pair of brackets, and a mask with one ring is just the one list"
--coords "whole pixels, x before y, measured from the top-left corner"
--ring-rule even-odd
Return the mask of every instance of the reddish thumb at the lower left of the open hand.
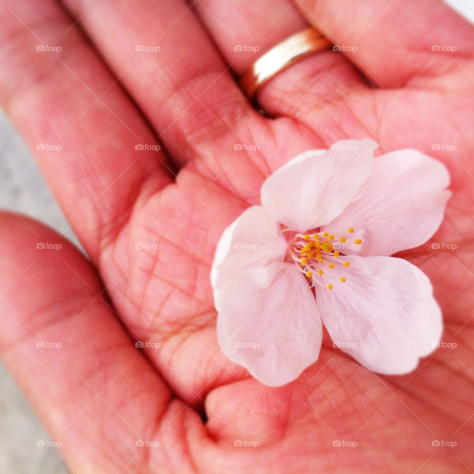
[[[200, 420], [170, 402], [89, 263], [51, 229], [3, 212], [0, 247], [0, 354], [49, 430], [48, 442], [74, 472], [141, 472], [152, 450], [158, 471], [166, 471], [163, 453], [179, 444], [174, 432], [184, 419], [196, 427]], [[176, 469], [190, 472], [186, 456]]]

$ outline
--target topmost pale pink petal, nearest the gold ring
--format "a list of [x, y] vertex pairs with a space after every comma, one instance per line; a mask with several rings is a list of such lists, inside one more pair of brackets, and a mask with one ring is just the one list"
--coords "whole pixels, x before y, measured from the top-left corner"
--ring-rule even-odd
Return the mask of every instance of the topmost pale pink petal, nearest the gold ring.
[[330, 150], [293, 158], [262, 185], [262, 205], [276, 221], [299, 232], [336, 218], [370, 174], [373, 140], [344, 140]]

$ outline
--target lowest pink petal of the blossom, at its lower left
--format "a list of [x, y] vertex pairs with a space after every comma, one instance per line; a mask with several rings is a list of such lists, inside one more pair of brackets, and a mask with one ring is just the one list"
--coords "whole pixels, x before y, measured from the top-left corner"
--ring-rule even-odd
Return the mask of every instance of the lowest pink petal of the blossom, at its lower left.
[[278, 387], [316, 361], [322, 326], [306, 278], [281, 262], [247, 269], [221, 290], [217, 334], [226, 356]]

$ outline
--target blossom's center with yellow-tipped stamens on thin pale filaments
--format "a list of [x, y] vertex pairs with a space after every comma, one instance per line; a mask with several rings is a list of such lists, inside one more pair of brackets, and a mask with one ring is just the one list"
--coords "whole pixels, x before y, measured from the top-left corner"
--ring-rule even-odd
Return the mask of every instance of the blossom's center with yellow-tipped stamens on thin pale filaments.
[[[354, 244], [347, 242], [354, 229], [350, 227], [347, 235], [335, 237], [328, 232], [320, 234], [296, 234], [291, 245], [291, 257], [296, 262], [300, 272], [304, 273], [312, 286], [319, 285], [332, 290], [336, 282], [344, 283], [344, 276], [337, 276], [337, 269], [349, 267], [350, 263], [344, 260], [344, 252], [341, 256], [339, 249], [350, 248], [362, 243], [360, 238], [354, 240]], [[347, 245], [347, 247], [346, 247]]]

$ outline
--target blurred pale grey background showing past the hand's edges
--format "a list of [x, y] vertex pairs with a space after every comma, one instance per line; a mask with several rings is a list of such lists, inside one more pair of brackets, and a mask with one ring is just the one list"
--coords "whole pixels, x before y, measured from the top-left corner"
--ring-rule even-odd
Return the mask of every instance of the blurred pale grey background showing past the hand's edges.
[[[474, 0], [446, 1], [474, 22]], [[77, 243], [32, 154], [1, 111], [0, 207], [33, 216]], [[37, 447], [45, 439], [28, 400], [0, 363], [0, 473], [67, 473], [55, 448]]]

